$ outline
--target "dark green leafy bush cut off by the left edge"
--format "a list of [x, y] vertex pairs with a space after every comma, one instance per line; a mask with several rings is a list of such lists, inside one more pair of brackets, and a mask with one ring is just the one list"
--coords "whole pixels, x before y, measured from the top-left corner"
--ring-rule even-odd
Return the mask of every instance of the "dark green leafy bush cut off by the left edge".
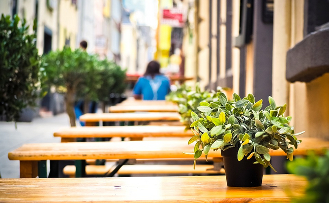
[[40, 57], [35, 42], [36, 35], [28, 34], [25, 19], [1, 16], [0, 114], [6, 115], [7, 121], [17, 121], [23, 108], [35, 106], [40, 86]]

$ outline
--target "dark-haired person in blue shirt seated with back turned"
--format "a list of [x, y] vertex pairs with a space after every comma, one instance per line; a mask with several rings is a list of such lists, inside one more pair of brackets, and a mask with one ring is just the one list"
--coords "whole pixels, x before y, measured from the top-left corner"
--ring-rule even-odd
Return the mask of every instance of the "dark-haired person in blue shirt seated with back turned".
[[169, 78], [160, 74], [160, 64], [153, 60], [147, 64], [144, 76], [137, 80], [133, 94], [135, 99], [165, 100], [169, 91]]

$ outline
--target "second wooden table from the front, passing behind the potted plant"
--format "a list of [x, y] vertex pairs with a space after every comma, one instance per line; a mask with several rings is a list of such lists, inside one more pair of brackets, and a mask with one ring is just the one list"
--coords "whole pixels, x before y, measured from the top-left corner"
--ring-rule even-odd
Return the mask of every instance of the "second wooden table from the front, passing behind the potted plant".
[[[9, 152], [8, 157], [10, 160], [20, 161], [21, 178], [33, 178], [38, 175], [38, 167], [40, 167], [38, 161], [43, 161], [45, 164], [44, 160], [191, 158], [193, 155], [183, 154], [183, 152], [193, 152], [194, 145], [188, 145], [187, 142], [188, 139], [186, 141], [25, 144]], [[304, 138], [294, 151], [294, 155], [306, 155], [309, 150], [323, 154], [325, 149], [329, 149], [329, 141]], [[270, 150], [270, 154], [286, 156], [282, 150]], [[204, 154], [202, 156], [204, 157]], [[211, 151], [208, 157], [221, 157], [221, 152]], [[41, 173], [44, 177], [44, 172], [39, 171], [39, 174]], [[77, 174], [79, 173], [77, 168]]]

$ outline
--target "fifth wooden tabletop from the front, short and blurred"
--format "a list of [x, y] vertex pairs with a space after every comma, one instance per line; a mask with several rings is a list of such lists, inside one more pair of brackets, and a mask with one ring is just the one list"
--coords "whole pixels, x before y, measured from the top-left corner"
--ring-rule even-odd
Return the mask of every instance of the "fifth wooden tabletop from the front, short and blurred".
[[177, 105], [118, 105], [109, 108], [111, 113], [125, 112], [177, 112]]

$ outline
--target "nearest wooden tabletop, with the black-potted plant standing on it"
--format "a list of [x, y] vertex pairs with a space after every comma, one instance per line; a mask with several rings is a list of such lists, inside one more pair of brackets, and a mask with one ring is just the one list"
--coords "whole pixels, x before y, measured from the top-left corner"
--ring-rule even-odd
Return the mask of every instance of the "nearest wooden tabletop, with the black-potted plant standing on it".
[[225, 176], [0, 179], [0, 202], [290, 202], [306, 179], [264, 175], [260, 187], [227, 187]]

